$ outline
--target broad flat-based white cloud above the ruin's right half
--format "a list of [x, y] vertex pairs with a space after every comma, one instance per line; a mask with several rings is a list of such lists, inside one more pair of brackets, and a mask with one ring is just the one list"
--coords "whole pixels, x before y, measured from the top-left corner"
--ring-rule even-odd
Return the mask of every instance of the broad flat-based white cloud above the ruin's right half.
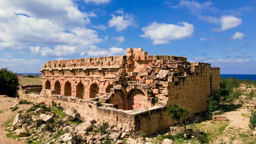
[[194, 33], [194, 26], [187, 22], [179, 22], [179, 25], [152, 22], [149, 26], [143, 27], [144, 35], [141, 37], [150, 38], [153, 44], [169, 44], [175, 41], [191, 37]]

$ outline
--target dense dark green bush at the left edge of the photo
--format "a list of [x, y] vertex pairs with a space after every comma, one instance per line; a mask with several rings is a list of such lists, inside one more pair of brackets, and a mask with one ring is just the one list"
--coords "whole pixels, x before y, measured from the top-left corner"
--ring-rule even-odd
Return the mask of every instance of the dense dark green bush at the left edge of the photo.
[[19, 86], [17, 73], [13, 73], [7, 68], [0, 69], [0, 95], [14, 97], [17, 86]]

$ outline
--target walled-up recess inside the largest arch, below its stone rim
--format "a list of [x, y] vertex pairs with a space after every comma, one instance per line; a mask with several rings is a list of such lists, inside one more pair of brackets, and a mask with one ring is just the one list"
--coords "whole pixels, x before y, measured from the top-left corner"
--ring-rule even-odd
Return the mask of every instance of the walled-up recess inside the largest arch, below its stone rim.
[[146, 95], [140, 89], [131, 90], [130, 94], [128, 94], [126, 103], [126, 110], [145, 108], [149, 105]]

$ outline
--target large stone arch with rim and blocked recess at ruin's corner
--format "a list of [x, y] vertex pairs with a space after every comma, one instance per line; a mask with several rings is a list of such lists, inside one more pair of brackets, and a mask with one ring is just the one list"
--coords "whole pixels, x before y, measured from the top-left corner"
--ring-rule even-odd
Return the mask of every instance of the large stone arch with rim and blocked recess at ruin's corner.
[[152, 97], [152, 91], [148, 85], [132, 84], [126, 88], [125, 109], [134, 110], [139, 108], [151, 107], [151, 101], [148, 97]]

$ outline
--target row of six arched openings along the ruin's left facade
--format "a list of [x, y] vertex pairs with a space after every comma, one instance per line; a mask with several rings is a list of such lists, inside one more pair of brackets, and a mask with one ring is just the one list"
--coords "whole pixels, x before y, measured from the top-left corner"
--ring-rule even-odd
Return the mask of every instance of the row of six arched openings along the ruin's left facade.
[[[104, 93], [109, 93], [111, 88], [113, 88], [112, 84], [107, 85], [104, 89]], [[66, 81], [61, 85], [57, 80], [52, 86], [50, 81], [47, 80], [45, 82], [44, 89], [54, 89], [56, 90], [57, 95], [76, 96], [81, 99], [95, 98], [100, 95], [99, 85], [97, 83], [92, 83], [88, 88], [83, 85], [82, 82], [79, 82], [74, 86], [74, 88], [72, 88], [71, 82], [69, 81]]]

